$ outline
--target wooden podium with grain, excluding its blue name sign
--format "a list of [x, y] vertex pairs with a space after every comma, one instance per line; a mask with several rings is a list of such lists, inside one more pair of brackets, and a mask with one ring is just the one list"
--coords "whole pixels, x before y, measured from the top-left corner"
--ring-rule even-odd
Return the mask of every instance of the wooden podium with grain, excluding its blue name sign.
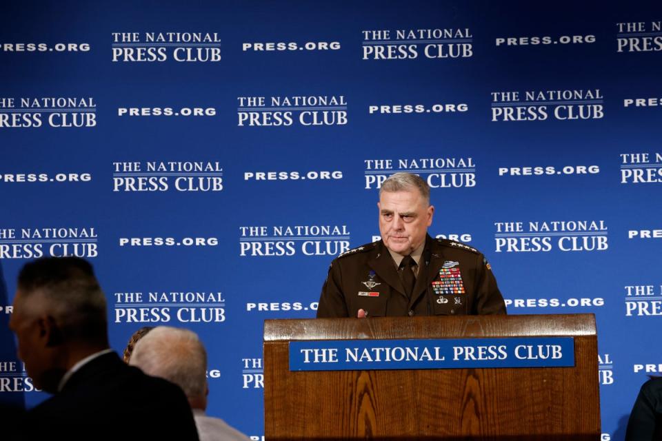
[[[290, 371], [290, 342], [570, 337], [574, 366]], [[265, 320], [265, 439], [599, 440], [592, 314]]]

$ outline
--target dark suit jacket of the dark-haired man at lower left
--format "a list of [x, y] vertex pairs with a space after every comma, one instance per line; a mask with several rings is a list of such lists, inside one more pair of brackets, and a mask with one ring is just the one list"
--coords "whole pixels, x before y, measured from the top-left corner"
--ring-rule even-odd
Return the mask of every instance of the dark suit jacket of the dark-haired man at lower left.
[[[139, 416], [127, 438], [121, 422]], [[94, 358], [74, 372], [62, 391], [28, 412], [26, 440], [99, 439], [197, 440], [195, 422], [183, 391], [162, 378], [126, 365], [117, 353]]]

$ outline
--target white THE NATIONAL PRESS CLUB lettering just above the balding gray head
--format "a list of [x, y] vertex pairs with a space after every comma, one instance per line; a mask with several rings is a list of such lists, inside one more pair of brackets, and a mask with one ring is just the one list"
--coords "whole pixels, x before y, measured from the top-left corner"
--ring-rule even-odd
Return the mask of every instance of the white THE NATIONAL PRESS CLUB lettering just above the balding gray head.
[[221, 291], [115, 292], [115, 323], [222, 323], [225, 298]]

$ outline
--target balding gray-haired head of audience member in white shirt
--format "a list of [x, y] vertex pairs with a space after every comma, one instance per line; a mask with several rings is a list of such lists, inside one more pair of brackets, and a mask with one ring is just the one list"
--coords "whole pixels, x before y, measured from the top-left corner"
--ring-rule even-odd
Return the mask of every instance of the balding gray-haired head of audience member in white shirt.
[[129, 365], [181, 387], [188, 398], [207, 390], [207, 351], [188, 329], [157, 326], [138, 340]]

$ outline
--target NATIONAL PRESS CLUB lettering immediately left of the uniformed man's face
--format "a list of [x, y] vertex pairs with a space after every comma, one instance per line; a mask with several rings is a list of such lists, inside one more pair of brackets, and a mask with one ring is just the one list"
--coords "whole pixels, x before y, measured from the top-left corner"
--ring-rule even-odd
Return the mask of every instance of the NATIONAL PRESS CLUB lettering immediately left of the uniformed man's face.
[[239, 256], [338, 256], [350, 249], [347, 225], [239, 227]]

